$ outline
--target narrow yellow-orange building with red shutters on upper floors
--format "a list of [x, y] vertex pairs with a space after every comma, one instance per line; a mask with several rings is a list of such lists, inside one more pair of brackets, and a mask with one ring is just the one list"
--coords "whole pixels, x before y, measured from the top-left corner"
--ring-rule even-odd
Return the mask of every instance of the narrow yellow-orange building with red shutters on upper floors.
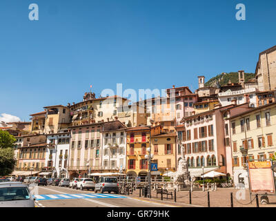
[[[161, 126], [152, 126], [151, 135], [159, 135]], [[150, 127], [137, 126], [126, 129], [126, 175], [146, 177], [148, 175], [148, 154], [150, 147]]]

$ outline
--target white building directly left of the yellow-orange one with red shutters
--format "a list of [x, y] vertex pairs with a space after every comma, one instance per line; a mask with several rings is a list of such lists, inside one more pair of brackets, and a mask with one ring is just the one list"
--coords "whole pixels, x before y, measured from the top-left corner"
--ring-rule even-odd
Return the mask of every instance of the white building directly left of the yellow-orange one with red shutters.
[[126, 173], [126, 126], [115, 120], [105, 122], [101, 131], [103, 137], [103, 170]]

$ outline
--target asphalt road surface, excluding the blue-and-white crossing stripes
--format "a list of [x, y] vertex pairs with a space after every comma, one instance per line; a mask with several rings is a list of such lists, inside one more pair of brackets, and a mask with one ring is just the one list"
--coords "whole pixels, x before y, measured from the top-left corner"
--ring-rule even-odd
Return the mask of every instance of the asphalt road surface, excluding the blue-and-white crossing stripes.
[[[89, 194], [94, 191], [81, 191], [60, 186], [39, 186], [39, 195]], [[99, 193], [101, 194], [101, 193]], [[104, 194], [103, 194], [104, 195]], [[112, 195], [112, 194], [110, 194]], [[117, 194], [115, 194], [117, 195]], [[125, 196], [125, 195], [124, 195]], [[168, 207], [171, 205], [139, 200], [136, 198], [75, 198], [65, 200], [39, 200], [45, 207]]]

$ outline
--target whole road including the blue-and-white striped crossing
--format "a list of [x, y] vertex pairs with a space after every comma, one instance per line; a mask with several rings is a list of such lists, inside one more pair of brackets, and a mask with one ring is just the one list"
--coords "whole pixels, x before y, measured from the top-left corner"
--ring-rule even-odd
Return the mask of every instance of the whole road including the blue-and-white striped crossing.
[[[66, 199], [65, 199], [66, 198]], [[38, 206], [45, 207], [168, 207], [172, 205], [130, 198], [126, 195], [95, 194], [60, 186], [39, 186]]]

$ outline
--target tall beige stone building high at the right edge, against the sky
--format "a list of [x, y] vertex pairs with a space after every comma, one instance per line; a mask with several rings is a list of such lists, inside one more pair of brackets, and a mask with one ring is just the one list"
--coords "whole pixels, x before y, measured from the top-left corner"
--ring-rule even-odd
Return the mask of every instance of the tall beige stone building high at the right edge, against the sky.
[[276, 46], [259, 53], [255, 78], [259, 91], [276, 88]]

